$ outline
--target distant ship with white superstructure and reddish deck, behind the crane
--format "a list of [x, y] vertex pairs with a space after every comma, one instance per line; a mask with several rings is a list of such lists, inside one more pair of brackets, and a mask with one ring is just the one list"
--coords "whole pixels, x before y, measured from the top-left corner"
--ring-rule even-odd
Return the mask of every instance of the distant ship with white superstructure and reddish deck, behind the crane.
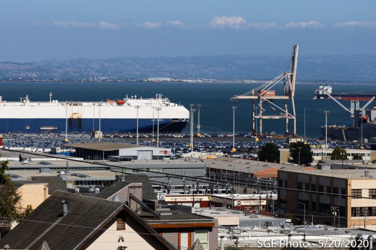
[[315, 90], [313, 100], [329, 100], [330, 97], [323, 90], [329, 93], [334, 99], [344, 101], [369, 101], [375, 96], [375, 94], [362, 93], [333, 93], [330, 85], [320, 85], [319, 88]]

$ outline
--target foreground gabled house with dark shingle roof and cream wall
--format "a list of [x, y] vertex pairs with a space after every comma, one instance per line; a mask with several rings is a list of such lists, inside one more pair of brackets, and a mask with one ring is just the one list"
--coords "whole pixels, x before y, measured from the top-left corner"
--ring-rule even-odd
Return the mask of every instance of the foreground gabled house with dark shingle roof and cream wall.
[[27, 220], [0, 240], [0, 248], [28, 250], [173, 250], [125, 203], [55, 191]]

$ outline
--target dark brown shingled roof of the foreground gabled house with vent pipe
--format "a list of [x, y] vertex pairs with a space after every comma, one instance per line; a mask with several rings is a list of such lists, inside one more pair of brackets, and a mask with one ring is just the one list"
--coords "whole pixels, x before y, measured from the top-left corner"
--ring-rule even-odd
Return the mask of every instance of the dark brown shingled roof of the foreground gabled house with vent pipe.
[[[62, 217], [62, 201], [68, 204], [68, 214]], [[83, 249], [116, 216], [125, 211], [134, 218], [166, 249], [174, 249], [164, 238], [151, 229], [124, 203], [95, 197], [55, 191], [36, 208], [27, 220], [6, 234], [0, 240], [0, 247], [9, 245], [12, 249], [40, 250], [47, 242], [50, 249]], [[21, 240], [22, 239], [22, 240]]]

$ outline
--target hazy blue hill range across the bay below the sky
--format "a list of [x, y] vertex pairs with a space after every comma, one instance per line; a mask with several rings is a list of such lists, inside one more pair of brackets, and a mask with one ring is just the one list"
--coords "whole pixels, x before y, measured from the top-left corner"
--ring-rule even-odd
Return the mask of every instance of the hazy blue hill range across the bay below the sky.
[[[144, 79], [266, 80], [289, 70], [285, 56], [218, 55], [118, 57], [43, 62], [0, 62], [0, 79]], [[376, 55], [300, 56], [298, 81], [376, 82]]]

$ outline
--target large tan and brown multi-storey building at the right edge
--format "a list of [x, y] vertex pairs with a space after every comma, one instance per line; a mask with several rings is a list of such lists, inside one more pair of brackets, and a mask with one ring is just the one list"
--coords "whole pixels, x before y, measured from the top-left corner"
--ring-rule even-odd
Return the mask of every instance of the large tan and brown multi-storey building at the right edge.
[[278, 179], [279, 187], [288, 188], [278, 192], [279, 215], [292, 214], [294, 224], [304, 224], [305, 212], [312, 214], [306, 216], [306, 224], [313, 219], [314, 224], [375, 228], [376, 169], [280, 169]]

